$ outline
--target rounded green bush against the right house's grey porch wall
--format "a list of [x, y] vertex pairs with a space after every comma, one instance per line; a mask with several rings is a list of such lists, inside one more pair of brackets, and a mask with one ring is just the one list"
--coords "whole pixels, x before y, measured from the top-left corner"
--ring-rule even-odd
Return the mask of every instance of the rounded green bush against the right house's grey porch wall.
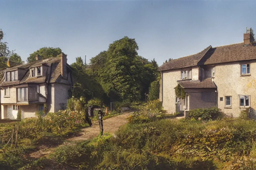
[[222, 119], [224, 113], [217, 107], [204, 108], [204, 109], [193, 109], [189, 111], [189, 118], [195, 120], [209, 121]]

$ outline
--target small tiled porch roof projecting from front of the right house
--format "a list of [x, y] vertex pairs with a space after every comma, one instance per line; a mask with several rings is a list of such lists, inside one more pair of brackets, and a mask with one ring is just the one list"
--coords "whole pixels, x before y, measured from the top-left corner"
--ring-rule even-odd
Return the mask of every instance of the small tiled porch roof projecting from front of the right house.
[[185, 81], [177, 81], [185, 89], [188, 88], [217, 88], [214, 82], [212, 82], [211, 78], [206, 78], [202, 81], [197, 80], [185, 80]]

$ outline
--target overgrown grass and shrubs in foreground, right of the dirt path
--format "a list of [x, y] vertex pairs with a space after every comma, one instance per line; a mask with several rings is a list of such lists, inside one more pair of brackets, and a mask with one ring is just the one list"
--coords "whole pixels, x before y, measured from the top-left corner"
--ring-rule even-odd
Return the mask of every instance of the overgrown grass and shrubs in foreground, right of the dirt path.
[[158, 120], [59, 147], [53, 158], [80, 169], [255, 169], [255, 132], [243, 119]]

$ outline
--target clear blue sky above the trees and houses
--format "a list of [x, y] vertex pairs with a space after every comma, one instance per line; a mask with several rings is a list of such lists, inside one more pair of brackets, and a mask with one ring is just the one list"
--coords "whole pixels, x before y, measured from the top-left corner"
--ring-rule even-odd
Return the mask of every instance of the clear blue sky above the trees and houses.
[[253, 1], [11, 1], [0, 0], [4, 41], [23, 60], [35, 50], [60, 47], [89, 59], [124, 36], [138, 54], [161, 65], [209, 45], [243, 42], [246, 27], [256, 32]]

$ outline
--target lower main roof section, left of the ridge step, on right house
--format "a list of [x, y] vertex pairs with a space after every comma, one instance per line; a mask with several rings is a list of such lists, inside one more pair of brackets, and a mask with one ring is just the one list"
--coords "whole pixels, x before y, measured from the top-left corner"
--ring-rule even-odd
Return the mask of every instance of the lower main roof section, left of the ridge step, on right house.
[[171, 60], [167, 63], [164, 63], [158, 68], [158, 71], [164, 71], [164, 70], [171, 70], [171, 69], [177, 69], [177, 68], [185, 68], [185, 67], [192, 67], [196, 66], [198, 61], [204, 56], [204, 54], [211, 48], [212, 46], [208, 46], [201, 52], [193, 55], [189, 55], [186, 57], [177, 58], [174, 60]]

